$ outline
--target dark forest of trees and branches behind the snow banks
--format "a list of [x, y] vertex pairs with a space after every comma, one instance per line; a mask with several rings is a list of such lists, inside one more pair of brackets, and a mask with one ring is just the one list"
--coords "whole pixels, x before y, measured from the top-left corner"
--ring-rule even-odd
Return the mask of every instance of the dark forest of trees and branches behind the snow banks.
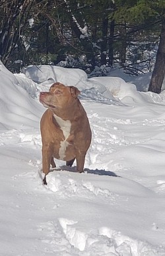
[[164, 0], [1, 0], [0, 56], [12, 72], [29, 65], [81, 68], [106, 76], [121, 67], [165, 74]]

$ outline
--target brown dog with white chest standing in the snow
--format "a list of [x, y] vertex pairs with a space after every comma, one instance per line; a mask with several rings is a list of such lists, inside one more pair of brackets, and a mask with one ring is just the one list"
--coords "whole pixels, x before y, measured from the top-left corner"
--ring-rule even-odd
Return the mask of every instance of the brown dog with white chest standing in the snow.
[[77, 160], [77, 171], [83, 172], [86, 151], [91, 142], [91, 130], [86, 112], [77, 98], [74, 86], [55, 83], [49, 92], [40, 92], [40, 102], [48, 107], [41, 119], [42, 171], [46, 175], [55, 159], [67, 161], [72, 166]]

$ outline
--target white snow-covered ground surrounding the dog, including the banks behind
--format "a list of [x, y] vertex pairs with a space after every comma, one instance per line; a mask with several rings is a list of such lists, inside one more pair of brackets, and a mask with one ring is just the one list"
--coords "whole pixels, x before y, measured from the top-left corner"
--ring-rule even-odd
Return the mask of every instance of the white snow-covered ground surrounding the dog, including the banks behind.
[[[164, 256], [164, 92], [52, 66], [0, 78], [0, 255]], [[57, 81], [81, 90], [92, 144], [84, 173], [56, 160], [44, 186], [38, 96]]]

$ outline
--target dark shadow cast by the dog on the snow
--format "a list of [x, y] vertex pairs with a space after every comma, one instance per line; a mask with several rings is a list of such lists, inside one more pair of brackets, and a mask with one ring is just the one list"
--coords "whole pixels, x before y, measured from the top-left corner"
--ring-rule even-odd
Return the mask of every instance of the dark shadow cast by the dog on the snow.
[[[53, 169], [50, 170], [50, 172], [55, 171], [55, 170], [67, 170], [68, 172], [77, 172], [76, 166], [70, 167], [70, 166], [66, 166], [66, 165], [59, 166], [59, 168], [53, 168]], [[110, 170], [98, 170], [98, 169], [90, 170], [88, 168], [84, 168], [84, 173], [119, 177], [119, 176], [116, 175], [115, 172], [111, 172]]]

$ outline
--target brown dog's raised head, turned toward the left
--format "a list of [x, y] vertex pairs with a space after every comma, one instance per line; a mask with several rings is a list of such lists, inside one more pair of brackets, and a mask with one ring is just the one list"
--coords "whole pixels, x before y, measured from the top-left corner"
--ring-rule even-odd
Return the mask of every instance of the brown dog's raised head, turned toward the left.
[[51, 110], [56, 107], [65, 108], [71, 105], [80, 93], [75, 86], [55, 83], [52, 84], [49, 92], [40, 92], [40, 102]]

